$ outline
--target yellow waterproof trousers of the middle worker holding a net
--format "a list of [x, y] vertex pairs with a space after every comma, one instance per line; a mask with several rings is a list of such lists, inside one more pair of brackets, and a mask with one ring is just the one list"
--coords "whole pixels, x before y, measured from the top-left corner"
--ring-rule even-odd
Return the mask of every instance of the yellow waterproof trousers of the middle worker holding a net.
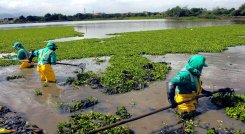
[[37, 71], [39, 72], [41, 80], [46, 82], [56, 82], [56, 77], [50, 64], [38, 65]]

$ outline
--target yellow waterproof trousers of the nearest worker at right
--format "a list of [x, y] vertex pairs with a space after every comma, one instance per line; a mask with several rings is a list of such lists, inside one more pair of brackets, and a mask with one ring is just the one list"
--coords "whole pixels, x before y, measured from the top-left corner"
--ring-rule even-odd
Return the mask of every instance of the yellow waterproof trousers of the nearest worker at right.
[[[193, 94], [177, 94], [175, 96], [175, 100], [177, 103], [179, 103], [179, 102], [182, 102], [185, 100], [192, 99], [194, 97], [196, 97], [196, 93], [193, 93]], [[196, 110], [197, 103], [198, 103], [197, 100], [186, 102], [186, 103], [183, 103], [181, 105], [178, 105], [177, 109], [179, 112], [191, 112], [191, 111]]]

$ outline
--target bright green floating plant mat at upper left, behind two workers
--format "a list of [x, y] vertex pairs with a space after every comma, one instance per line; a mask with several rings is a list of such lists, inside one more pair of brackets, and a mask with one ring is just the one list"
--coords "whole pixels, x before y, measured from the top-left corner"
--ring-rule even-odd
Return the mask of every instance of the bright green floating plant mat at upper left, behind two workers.
[[21, 42], [27, 50], [40, 49], [46, 46], [44, 41], [71, 37], [81, 34], [73, 30], [73, 27], [46, 27], [0, 30], [0, 53], [15, 51], [12, 48], [14, 42]]

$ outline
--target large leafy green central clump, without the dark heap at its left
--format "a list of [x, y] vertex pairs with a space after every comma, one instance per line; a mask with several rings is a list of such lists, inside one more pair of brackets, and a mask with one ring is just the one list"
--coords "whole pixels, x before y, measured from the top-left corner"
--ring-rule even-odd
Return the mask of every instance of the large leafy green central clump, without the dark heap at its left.
[[[151, 63], [141, 56], [113, 56], [102, 77], [102, 85], [108, 94], [125, 93], [147, 87], [148, 82], [164, 79], [169, 67]], [[148, 67], [149, 66], [149, 67]]]

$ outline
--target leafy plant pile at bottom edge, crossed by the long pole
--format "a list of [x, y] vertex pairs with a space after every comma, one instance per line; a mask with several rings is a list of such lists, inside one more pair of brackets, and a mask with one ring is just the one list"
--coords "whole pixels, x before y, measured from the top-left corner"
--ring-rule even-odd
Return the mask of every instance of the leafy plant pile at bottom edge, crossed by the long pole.
[[[88, 114], [76, 114], [71, 116], [68, 121], [58, 124], [58, 133], [80, 133], [86, 134], [91, 130], [113, 124], [120, 121], [120, 118], [114, 115], [103, 115], [98, 112], [90, 112]], [[132, 134], [133, 132], [127, 126], [118, 126], [107, 129], [97, 134]]]

